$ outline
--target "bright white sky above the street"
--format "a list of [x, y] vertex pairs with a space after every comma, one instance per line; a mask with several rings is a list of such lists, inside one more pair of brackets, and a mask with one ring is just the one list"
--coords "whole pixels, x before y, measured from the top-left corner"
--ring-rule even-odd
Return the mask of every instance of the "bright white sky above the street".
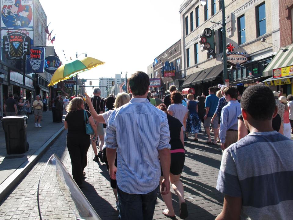
[[[181, 38], [179, 9], [184, 0], [39, 1], [47, 24], [51, 22], [52, 37], [56, 34], [53, 46], [63, 64], [71, 61], [69, 57], [76, 59], [76, 52], [79, 58], [87, 53], [105, 62], [80, 78], [110, 78], [121, 71], [129, 78], [135, 71], [147, 72], [154, 58]], [[99, 80], [85, 85], [89, 81], [99, 85]], [[86, 90], [92, 93], [92, 87]]]

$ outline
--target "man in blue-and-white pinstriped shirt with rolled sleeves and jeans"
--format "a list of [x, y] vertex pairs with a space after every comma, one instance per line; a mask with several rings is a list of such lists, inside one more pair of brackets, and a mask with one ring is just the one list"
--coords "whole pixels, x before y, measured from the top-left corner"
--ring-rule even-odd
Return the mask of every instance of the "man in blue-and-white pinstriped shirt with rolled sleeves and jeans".
[[[115, 109], [107, 121], [107, 160], [117, 180], [121, 219], [153, 219], [159, 193], [170, 190], [170, 132], [167, 115], [147, 100], [149, 76], [141, 71], [129, 79], [131, 101]], [[117, 167], [114, 161], [117, 151]]]

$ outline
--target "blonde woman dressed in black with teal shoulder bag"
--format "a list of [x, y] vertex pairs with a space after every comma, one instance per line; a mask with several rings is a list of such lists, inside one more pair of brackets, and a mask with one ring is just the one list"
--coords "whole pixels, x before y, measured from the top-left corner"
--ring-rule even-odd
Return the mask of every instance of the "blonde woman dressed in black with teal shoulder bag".
[[[72, 177], [76, 184], [81, 187], [82, 179], [85, 177], [84, 169], [87, 165], [86, 154], [90, 145], [90, 135], [85, 132], [85, 114], [88, 115], [95, 138], [97, 138], [97, 127], [89, 111], [84, 110], [85, 105], [80, 97], [73, 98], [67, 105], [67, 115], [64, 127], [68, 129], [67, 149], [71, 159]], [[87, 120], [87, 119], [86, 119]]]

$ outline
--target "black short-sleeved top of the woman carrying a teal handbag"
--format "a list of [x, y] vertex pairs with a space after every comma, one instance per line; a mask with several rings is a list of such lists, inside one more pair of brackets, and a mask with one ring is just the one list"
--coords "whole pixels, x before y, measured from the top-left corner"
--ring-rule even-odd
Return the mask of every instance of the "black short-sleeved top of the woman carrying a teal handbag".
[[[92, 116], [89, 111], [85, 110], [88, 114], [88, 117]], [[68, 112], [65, 116], [65, 121], [68, 124], [68, 134], [80, 134], [80, 135], [87, 135], [85, 133], [85, 120], [87, 118], [84, 115], [83, 109], [78, 109], [76, 112]]]

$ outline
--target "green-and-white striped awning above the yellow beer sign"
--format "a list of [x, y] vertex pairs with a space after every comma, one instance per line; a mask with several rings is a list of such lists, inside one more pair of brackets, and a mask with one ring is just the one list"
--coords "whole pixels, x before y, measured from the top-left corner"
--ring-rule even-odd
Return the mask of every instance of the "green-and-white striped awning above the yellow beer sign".
[[263, 76], [273, 76], [273, 69], [287, 67], [293, 65], [293, 44], [281, 48], [273, 60], [269, 63], [266, 69], [263, 71]]

